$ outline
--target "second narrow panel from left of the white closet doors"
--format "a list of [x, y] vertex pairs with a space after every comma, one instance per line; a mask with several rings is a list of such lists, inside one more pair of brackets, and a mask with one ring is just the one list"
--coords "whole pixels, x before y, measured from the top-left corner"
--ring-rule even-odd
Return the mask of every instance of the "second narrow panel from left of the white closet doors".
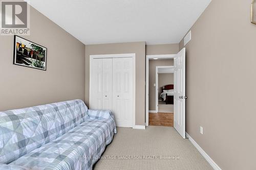
[[112, 58], [102, 59], [102, 110], [112, 110]]

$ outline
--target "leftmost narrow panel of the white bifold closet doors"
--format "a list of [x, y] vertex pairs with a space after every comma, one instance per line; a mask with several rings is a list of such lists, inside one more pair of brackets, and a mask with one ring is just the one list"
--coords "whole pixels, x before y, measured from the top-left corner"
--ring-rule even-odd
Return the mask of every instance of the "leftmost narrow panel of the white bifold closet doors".
[[102, 109], [102, 59], [93, 59], [90, 109]]

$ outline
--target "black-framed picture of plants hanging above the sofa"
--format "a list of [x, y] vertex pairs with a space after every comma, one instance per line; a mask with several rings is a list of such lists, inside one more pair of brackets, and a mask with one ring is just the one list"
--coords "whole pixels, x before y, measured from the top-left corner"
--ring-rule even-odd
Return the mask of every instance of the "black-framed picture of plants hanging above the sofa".
[[14, 35], [13, 64], [46, 70], [47, 48]]

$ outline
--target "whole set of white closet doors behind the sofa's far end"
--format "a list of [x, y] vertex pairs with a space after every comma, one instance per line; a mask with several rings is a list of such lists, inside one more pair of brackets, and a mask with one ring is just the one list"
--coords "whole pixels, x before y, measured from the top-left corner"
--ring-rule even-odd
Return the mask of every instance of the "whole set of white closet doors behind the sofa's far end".
[[111, 110], [116, 126], [133, 127], [133, 58], [93, 59], [90, 109]]

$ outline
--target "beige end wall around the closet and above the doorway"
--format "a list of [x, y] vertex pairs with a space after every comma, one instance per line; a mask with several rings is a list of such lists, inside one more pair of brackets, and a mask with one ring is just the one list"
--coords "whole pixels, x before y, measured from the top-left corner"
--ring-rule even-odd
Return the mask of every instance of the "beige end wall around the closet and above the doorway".
[[136, 125], [144, 125], [145, 107], [143, 106], [145, 106], [145, 55], [176, 54], [178, 51], [179, 44], [145, 45], [145, 42], [127, 42], [86, 45], [86, 104], [89, 106], [90, 55], [136, 53]]

